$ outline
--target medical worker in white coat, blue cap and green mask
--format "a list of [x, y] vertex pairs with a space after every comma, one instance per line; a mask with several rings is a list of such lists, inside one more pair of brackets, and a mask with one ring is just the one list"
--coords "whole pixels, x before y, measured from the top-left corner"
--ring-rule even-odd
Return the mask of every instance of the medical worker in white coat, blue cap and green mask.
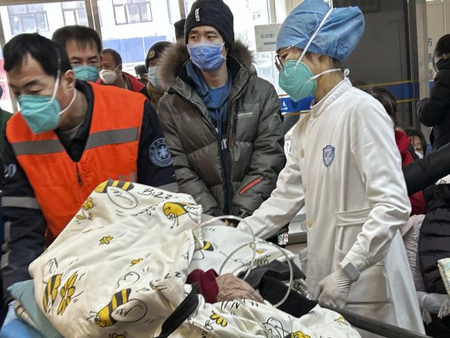
[[393, 126], [341, 69], [363, 30], [359, 8], [330, 9], [323, 0], [305, 0], [282, 24], [280, 87], [315, 103], [294, 127], [276, 189], [238, 227], [268, 238], [305, 205], [312, 299], [423, 333], [397, 231], [411, 205]]

